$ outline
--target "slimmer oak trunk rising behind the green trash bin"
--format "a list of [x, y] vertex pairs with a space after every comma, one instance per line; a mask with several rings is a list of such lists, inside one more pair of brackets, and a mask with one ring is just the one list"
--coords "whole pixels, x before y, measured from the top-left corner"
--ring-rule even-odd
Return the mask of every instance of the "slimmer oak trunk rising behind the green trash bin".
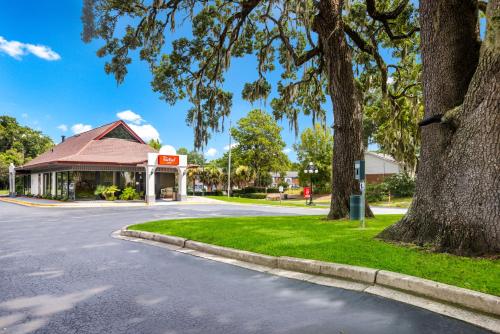
[[[354, 83], [352, 56], [342, 23], [342, 0], [322, 0], [314, 21], [323, 48], [328, 90], [334, 106], [332, 200], [329, 219], [349, 215], [349, 196], [359, 194], [354, 161], [363, 159], [361, 95]], [[366, 215], [373, 216], [366, 207]]]

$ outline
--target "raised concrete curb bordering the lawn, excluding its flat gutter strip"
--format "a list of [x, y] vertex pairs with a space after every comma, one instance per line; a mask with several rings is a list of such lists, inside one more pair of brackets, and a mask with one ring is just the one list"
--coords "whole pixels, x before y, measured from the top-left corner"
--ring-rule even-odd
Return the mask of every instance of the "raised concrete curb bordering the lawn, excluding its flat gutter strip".
[[[172, 244], [197, 252], [213, 254], [224, 258], [269, 267], [271, 270], [268, 272], [270, 273], [284, 270], [316, 275], [319, 278], [339, 278], [342, 280], [368, 284], [369, 287], [390, 288], [393, 291], [402, 291], [417, 297], [424, 297], [430, 300], [452, 304], [458, 306], [459, 308], [480, 312], [481, 314], [485, 314], [486, 316], [493, 317], [497, 320], [500, 318], [500, 297], [444, 283], [366, 267], [306, 260], [287, 256], [275, 257], [263, 255], [174, 236], [132, 231], [127, 228], [128, 226], [122, 229], [120, 231], [120, 235]], [[370, 292], [370, 288], [366, 289], [366, 292]], [[390, 295], [388, 295], [388, 298], [391, 298]], [[494, 322], [497, 320], [494, 320]], [[491, 328], [489, 329], [491, 330]]]

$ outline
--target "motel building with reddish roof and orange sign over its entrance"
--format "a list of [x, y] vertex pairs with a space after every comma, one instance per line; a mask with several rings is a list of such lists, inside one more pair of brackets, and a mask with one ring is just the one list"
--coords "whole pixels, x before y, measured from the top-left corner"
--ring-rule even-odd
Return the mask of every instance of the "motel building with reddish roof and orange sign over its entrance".
[[116, 121], [63, 137], [24, 166], [11, 166], [10, 193], [95, 200], [98, 185], [116, 185], [121, 190], [135, 188], [148, 204], [183, 201], [186, 170], [187, 156], [176, 155], [169, 146], [157, 152], [125, 122]]

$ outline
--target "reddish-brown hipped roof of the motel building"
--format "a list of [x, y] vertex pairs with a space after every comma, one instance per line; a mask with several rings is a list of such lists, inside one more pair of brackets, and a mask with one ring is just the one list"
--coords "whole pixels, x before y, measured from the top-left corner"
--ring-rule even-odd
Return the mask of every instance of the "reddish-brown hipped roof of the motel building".
[[[120, 125], [140, 142], [102, 138]], [[67, 138], [64, 142], [26, 163], [22, 169], [43, 167], [54, 163], [137, 165], [147, 161], [149, 152], [156, 152], [156, 150], [144, 143], [125, 122], [116, 121]]]

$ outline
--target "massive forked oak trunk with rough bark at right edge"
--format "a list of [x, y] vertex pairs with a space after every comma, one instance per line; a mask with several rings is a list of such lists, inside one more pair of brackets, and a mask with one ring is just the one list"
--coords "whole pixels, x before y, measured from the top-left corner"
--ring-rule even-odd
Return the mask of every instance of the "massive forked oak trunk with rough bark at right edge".
[[412, 206], [382, 238], [500, 252], [499, 3], [489, 2], [480, 49], [476, 1], [420, 2], [425, 118], [443, 116], [422, 128]]

